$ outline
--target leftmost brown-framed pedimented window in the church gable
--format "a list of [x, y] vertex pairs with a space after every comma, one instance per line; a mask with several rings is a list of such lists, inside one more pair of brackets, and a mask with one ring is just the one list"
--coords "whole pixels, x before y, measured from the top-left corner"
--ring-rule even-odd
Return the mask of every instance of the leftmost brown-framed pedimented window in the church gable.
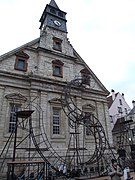
[[19, 71], [27, 71], [28, 59], [29, 59], [29, 56], [23, 51], [16, 53], [15, 69]]

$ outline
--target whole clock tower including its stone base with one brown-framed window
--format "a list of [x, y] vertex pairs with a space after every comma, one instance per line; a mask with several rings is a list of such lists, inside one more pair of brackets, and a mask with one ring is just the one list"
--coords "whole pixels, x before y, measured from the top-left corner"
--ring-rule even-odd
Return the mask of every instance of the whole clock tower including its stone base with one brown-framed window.
[[55, 0], [46, 5], [40, 23], [39, 47], [73, 57], [73, 47], [67, 38], [66, 13], [59, 9]]

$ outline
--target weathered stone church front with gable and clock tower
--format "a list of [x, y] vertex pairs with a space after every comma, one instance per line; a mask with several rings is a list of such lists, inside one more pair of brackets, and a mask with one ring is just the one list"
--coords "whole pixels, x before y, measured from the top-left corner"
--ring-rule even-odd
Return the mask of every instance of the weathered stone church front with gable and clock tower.
[[[0, 56], [0, 152], [14, 133], [15, 112], [33, 109], [33, 126], [39, 127], [42, 120], [48, 142], [64, 156], [71, 128], [59, 99], [67, 83], [86, 74], [89, 74], [90, 81], [85, 84], [85, 89], [75, 91], [76, 106], [99, 119], [112, 143], [106, 101], [109, 92], [70, 44], [66, 13], [51, 0], [40, 22], [39, 38]], [[83, 127], [80, 128], [83, 131]], [[23, 130], [23, 127], [18, 128], [17, 142], [25, 136]], [[85, 139], [80, 136], [82, 144], [84, 141], [86, 144], [93, 142], [90, 139], [86, 132]], [[28, 146], [24, 141], [22, 144], [23, 148]], [[92, 150], [92, 146], [89, 148]], [[12, 159], [12, 153], [13, 144], [9, 147], [8, 159]], [[16, 157], [20, 153], [21, 149], [16, 152]]]

